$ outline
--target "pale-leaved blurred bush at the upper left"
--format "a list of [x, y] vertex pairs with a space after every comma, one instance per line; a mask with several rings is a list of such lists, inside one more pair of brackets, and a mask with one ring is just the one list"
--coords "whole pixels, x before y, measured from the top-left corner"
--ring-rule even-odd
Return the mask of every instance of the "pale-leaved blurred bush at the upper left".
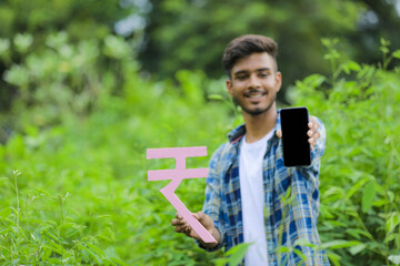
[[[31, 38], [17, 35], [14, 47], [26, 49]], [[69, 39], [63, 31], [48, 35], [42, 49], [4, 72], [4, 81], [19, 90], [4, 117], [8, 126], [23, 131], [27, 124], [43, 127], [71, 115], [84, 116], [103, 94], [118, 93], [124, 76], [138, 69], [132, 44], [121, 38], [107, 35], [77, 44]]]

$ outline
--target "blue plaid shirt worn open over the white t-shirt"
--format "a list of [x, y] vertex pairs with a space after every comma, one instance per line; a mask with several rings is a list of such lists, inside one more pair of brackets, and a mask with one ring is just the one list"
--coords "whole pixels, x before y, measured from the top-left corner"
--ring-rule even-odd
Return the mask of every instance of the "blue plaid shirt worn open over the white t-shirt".
[[[272, 266], [298, 265], [300, 262], [300, 265], [329, 265], [324, 250], [314, 248], [320, 244], [317, 231], [318, 175], [326, 143], [324, 125], [314, 117], [319, 123], [320, 137], [314, 151], [311, 152], [311, 165], [286, 167], [282, 142], [276, 135], [280, 130], [279, 114], [280, 110], [262, 165], [268, 262]], [[198, 242], [200, 247], [207, 250], [216, 250], [222, 246], [228, 250], [243, 243], [239, 154], [240, 140], [244, 133], [244, 125], [230, 132], [229, 142], [221, 145], [210, 161], [203, 212], [219, 229], [221, 243], [210, 249], [202, 247]], [[280, 246], [283, 247], [278, 248]]]

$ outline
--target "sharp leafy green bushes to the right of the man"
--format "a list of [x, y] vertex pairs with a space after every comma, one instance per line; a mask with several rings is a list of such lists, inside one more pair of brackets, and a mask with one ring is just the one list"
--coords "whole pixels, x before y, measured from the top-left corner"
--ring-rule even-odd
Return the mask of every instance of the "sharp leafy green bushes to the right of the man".
[[[310, 75], [291, 95], [327, 126], [319, 231], [336, 265], [396, 265], [400, 250], [400, 84], [398, 70], [386, 70], [397, 51], [383, 39], [381, 51], [377, 68], [340, 62], [334, 50], [332, 78]], [[344, 245], [332, 250], [332, 239]]]

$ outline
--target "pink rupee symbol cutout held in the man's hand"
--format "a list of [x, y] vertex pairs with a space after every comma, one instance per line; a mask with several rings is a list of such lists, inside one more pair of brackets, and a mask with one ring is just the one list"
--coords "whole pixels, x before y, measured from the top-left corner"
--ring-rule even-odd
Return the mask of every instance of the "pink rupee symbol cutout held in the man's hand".
[[172, 180], [166, 187], [160, 190], [162, 195], [167, 197], [167, 200], [172, 204], [178, 213], [182, 215], [182, 217], [189, 223], [204, 243], [217, 243], [211, 234], [199, 223], [197, 218], [192, 216], [189, 209], [174, 194], [174, 191], [183, 178], [198, 178], [206, 177], [208, 175], [207, 168], [186, 168], [187, 157], [206, 155], [206, 146], [148, 149], [147, 158], [173, 157], [176, 160], [174, 170], [148, 171], [148, 177], [149, 181]]

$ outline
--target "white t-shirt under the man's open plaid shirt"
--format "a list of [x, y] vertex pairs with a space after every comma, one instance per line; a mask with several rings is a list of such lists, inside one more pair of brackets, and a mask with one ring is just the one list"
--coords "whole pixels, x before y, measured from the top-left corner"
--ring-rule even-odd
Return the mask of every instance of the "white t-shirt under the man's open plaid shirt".
[[247, 266], [268, 265], [267, 239], [263, 218], [264, 191], [262, 181], [262, 160], [267, 142], [273, 130], [261, 140], [247, 143], [242, 137], [239, 156], [240, 194], [242, 201], [244, 243], [254, 243], [246, 253]]

